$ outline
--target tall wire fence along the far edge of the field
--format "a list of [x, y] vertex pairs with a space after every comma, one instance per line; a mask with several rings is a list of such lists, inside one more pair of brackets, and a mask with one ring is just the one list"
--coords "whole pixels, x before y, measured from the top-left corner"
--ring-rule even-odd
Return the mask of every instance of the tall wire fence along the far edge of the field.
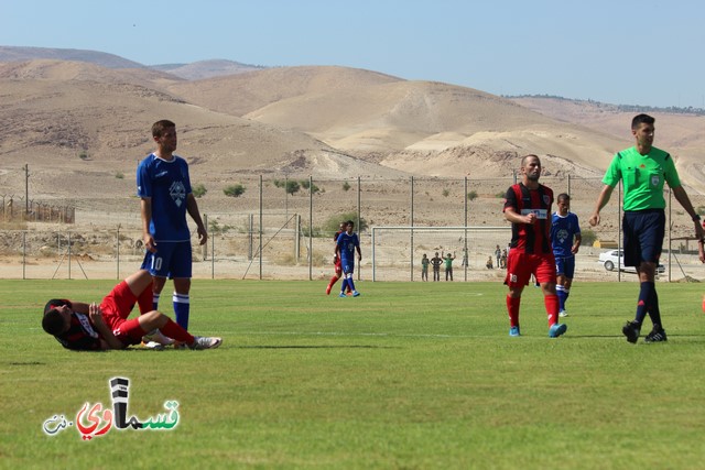
[[[516, 176], [313, 179], [254, 175], [232, 179], [207, 188], [198, 199], [209, 232], [205, 245], [198, 245], [189, 220], [195, 278], [329, 278], [333, 237], [344, 218], [356, 222], [360, 236], [364, 259], [356, 273], [360, 280], [421, 281], [423, 254], [432, 258], [436, 251], [455, 254], [454, 281], [503, 278], [496, 263], [492, 269], [486, 264], [496, 247], [503, 249], [510, 240], [510, 225], [501, 210]], [[600, 178], [547, 175], [541, 182], [555, 196], [571, 194], [571, 210], [579, 217], [587, 243], [577, 256], [576, 277], [633, 278], [608, 273], [597, 262], [600, 251], [620, 244], [618, 189], [601, 212], [600, 226], [590, 228], [587, 219], [603, 187]], [[226, 196], [234, 186], [241, 194]], [[702, 196], [691, 194], [691, 198], [699, 211], [705, 210]], [[670, 193], [666, 200], [669, 227], [662, 262], [668, 271], [661, 277], [701, 277], [690, 217]], [[110, 204], [104, 201], [106, 207]], [[0, 277], [124, 277], [139, 267], [143, 256], [139, 201], [126, 198], [115, 207], [74, 209], [64, 219], [29, 218], [22, 227], [3, 219]], [[119, 209], [124, 207], [128, 209]]]

